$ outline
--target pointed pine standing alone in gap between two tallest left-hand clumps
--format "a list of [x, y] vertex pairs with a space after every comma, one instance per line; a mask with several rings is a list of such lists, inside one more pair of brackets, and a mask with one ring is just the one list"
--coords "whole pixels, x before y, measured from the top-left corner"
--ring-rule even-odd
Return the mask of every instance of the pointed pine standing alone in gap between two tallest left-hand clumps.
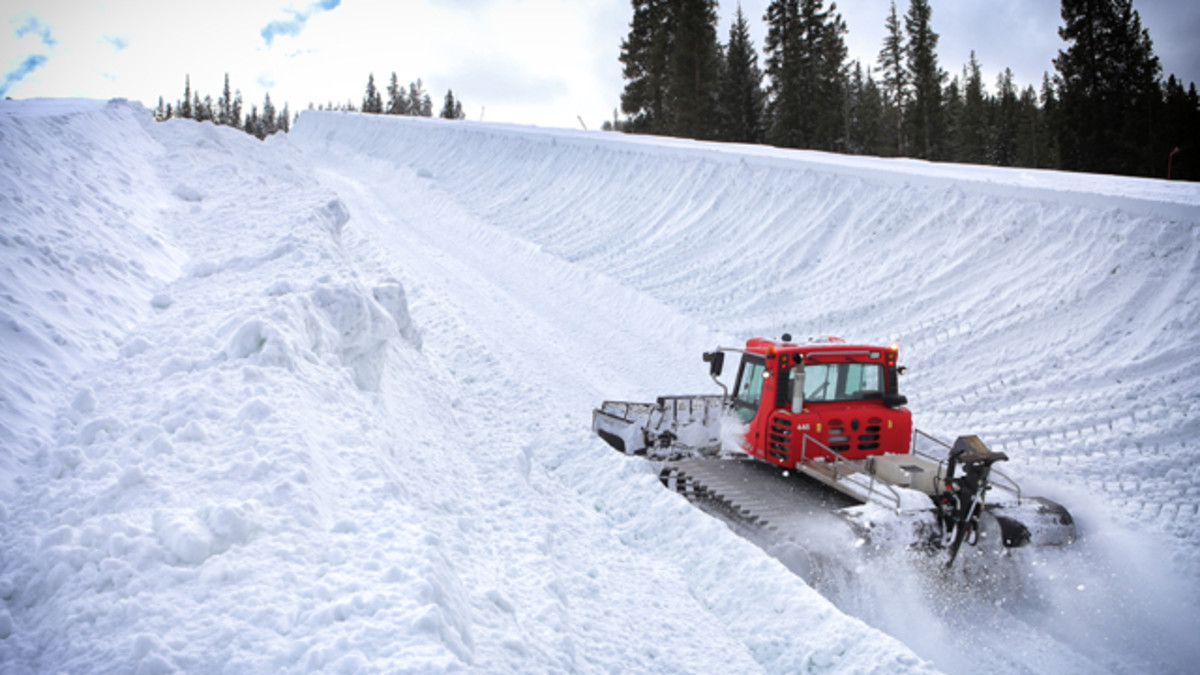
[[767, 95], [762, 90], [758, 53], [750, 40], [750, 26], [738, 5], [721, 79], [721, 139], [762, 143], [766, 133]]

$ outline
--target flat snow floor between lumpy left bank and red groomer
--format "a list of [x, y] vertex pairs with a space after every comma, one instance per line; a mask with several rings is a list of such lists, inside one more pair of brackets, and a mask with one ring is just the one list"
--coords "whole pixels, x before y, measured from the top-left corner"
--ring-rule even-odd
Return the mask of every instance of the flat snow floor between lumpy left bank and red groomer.
[[[460, 434], [460, 461], [468, 466], [450, 471], [486, 476], [480, 498], [487, 507], [470, 531], [492, 549], [461, 565], [521, 561], [506, 579], [515, 611], [560, 615], [557, 629], [538, 635], [550, 663], [572, 670], [629, 667], [611, 655], [623, 651], [635, 669], [653, 670], [790, 671], [810, 663], [853, 670], [888, 661], [889, 668], [917, 667], [889, 656], [895, 647], [856, 622], [829, 616], [823, 598], [745, 542], [726, 540], [728, 532], [714, 532], [715, 524], [696, 520], [685, 507], [680, 513], [683, 504], [656, 489], [642, 462], [581, 458], [580, 448], [594, 441], [588, 419], [595, 383], [620, 381], [631, 370], [685, 382], [680, 364], [672, 368], [646, 345], [685, 344], [698, 353], [713, 335], [640, 293], [488, 228], [420, 172], [336, 151], [313, 159], [330, 162], [323, 183], [358, 214], [347, 234], [352, 250], [364, 264], [404, 270], [425, 352], [461, 392], [448, 412]], [[637, 321], [644, 316], [660, 321]], [[600, 317], [622, 328], [600, 329]], [[690, 386], [700, 383], [692, 380]], [[571, 506], [581, 498], [590, 508]], [[514, 510], [547, 519], [548, 531], [514, 528]], [[588, 537], [598, 524], [617, 540]], [[605, 552], [618, 542], [617, 555]], [[622, 552], [626, 546], [634, 555]], [[588, 560], [583, 573], [581, 560]], [[539, 604], [547, 587], [554, 595]], [[772, 610], [744, 607], [738, 597], [772, 598]], [[688, 629], [664, 634], [677, 615], [692, 616]], [[802, 646], [772, 629], [781, 621], [821, 638]], [[690, 634], [695, 629], [728, 637], [702, 644]]]

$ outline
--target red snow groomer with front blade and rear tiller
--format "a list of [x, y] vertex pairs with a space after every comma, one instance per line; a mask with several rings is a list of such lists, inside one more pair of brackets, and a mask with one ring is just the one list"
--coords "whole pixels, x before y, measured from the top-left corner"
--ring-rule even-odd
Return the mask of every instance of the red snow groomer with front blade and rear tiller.
[[[719, 380], [726, 353], [739, 353], [733, 392]], [[794, 470], [857, 504], [839, 509], [865, 537], [889, 520], [910, 524], [918, 544], [949, 551], [994, 533], [1004, 546], [1066, 544], [1075, 538], [1062, 506], [1021, 492], [994, 470], [1003, 453], [976, 436], [946, 443], [913, 429], [900, 394], [899, 347], [751, 339], [744, 350], [704, 353], [715, 395], [661, 396], [654, 404], [605, 401], [593, 430], [617, 450], [664, 462], [664, 484], [754, 521], [778, 510], [726, 461], [750, 455]], [[724, 430], [724, 431], [722, 431]], [[725, 438], [722, 447], [722, 438]], [[920, 441], [929, 449], [918, 452]], [[995, 489], [995, 490], [994, 490]], [[986, 500], [989, 492], [997, 494]], [[766, 491], [763, 491], [766, 494]], [[948, 563], [948, 565], [949, 565]]]

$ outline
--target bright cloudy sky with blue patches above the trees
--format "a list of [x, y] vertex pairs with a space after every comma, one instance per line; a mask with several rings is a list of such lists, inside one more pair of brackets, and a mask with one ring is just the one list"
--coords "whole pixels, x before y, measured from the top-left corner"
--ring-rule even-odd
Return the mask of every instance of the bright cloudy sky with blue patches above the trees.
[[[761, 50], [769, 0], [743, 0]], [[971, 50], [995, 83], [1040, 85], [1066, 43], [1054, 0], [932, 0], [938, 59], [952, 76]], [[720, 6], [728, 41], [737, 2]], [[898, 2], [902, 13], [907, 2]], [[1135, 0], [1164, 78], [1200, 80], [1200, 2]], [[841, 0], [851, 59], [872, 65], [884, 0]], [[437, 113], [448, 90], [468, 119], [588, 129], [620, 102], [628, 0], [0, 0], [0, 95], [125, 97], [148, 107], [182, 96], [185, 76], [220, 96], [224, 74], [246, 102], [280, 108], [361, 103], [367, 78], [420, 78]], [[761, 56], [760, 56], [761, 59]]]

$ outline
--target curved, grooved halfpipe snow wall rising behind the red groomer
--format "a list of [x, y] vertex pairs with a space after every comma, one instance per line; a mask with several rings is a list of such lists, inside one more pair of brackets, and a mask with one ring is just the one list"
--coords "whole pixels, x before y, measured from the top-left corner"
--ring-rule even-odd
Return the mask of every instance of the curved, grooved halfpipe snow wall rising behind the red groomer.
[[324, 113], [292, 136], [426, 177], [730, 346], [898, 340], [919, 428], [1200, 563], [1195, 184]]

